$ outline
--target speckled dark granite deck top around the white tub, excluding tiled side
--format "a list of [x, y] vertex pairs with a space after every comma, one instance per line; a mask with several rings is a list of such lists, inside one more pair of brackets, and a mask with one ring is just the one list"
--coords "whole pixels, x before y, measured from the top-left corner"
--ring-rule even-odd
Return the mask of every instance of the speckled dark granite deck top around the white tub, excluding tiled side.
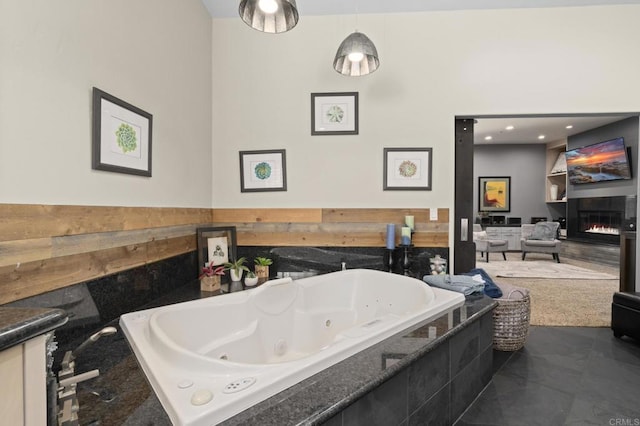
[[[191, 282], [150, 306], [210, 297]], [[467, 325], [466, 318], [493, 309], [493, 299], [467, 297], [462, 307], [420, 323], [280, 392], [222, 423], [225, 426], [322, 424], [353, 401], [393, 376], [421, 354], [440, 345], [443, 337]], [[98, 368], [100, 376], [79, 384], [81, 424], [171, 425], [138, 366], [118, 321], [119, 332], [96, 342], [77, 360], [79, 372]], [[224, 326], [224, 324], [220, 324]]]

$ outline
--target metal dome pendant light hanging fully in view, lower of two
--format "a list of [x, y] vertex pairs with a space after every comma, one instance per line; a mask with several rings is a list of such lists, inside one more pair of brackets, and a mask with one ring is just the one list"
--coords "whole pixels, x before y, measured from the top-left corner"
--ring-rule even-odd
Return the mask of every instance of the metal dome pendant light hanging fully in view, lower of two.
[[357, 30], [338, 47], [333, 68], [342, 75], [359, 77], [378, 69], [380, 60], [373, 42]]

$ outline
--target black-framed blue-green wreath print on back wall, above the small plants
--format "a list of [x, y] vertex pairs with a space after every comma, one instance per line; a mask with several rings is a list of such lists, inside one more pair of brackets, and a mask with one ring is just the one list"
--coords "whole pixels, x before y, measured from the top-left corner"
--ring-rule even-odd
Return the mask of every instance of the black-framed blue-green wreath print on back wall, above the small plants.
[[240, 151], [240, 191], [286, 191], [287, 160], [284, 149]]

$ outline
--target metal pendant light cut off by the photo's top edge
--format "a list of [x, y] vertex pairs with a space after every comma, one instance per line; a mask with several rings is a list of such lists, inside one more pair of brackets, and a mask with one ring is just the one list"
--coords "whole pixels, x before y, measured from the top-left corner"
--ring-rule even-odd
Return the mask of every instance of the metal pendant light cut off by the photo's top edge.
[[298, 23], [296, 0], [242, 0], [238, 13], [245, 24], [265, 33], [283, 33]]

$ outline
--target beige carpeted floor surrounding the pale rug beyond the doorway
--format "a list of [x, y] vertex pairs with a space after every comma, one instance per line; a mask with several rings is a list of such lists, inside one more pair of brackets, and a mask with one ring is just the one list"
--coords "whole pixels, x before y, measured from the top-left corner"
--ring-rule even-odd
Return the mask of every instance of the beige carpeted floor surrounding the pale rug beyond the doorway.
[[[520, 253], [507, 253], [507, 261], [520, 259]], [[554, 263], [551, 255], [527, 254], [527, 261]], [[531, 325], [570, 327], [609, 327], [611, 325], [611, 299], [620, 287], [619, 271], [615, 267], [561, 258], [562, 263], [594, 272], [609, 274], [613, 279], [567, 278], [506, 278], [490, 272], [478, 255], [476, 267], [483, 268], [493, 280], [529, 289], [531, 294]], [[504, 263], [501, 258], [491, 259], [489, 265]]]

